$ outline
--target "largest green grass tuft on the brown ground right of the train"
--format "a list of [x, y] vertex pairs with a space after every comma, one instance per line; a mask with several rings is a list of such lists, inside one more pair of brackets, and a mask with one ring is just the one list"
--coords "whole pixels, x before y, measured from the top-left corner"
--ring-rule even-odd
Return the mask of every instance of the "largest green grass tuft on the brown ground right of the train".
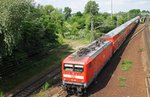
[[123, 60], [121, 64], [121, 70], [128, 71], [132, 67], [132, 61]]

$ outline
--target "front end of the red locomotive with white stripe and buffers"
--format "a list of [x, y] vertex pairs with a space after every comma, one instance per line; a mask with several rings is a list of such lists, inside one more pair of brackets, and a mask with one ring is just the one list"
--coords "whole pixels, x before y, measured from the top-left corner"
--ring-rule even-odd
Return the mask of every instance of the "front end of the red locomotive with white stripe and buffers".
[[86, 89], [86, 65], [67, 57], [62, 62], [62, 83], [68, 94], [82, 95]]

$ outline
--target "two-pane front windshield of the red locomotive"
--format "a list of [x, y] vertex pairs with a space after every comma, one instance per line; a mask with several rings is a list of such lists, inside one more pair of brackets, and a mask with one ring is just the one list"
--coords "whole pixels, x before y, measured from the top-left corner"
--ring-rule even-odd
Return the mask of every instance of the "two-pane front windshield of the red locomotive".
[[64, 70], [65, 71], [83, 72], [84, 68], [82, 65], [65, 64]]

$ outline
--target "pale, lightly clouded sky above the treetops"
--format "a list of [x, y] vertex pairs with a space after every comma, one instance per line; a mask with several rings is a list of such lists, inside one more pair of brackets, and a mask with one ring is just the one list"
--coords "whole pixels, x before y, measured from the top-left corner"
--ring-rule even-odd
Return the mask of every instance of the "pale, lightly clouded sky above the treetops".
[[[85, 4], [89, 0], [35, 0], [36, 4], [51, 4], [56, 8], [70, 7], [72, 13], [84, 11]], [[94, 0], [99, 4], [100, 12], [111, 12], [111, 0]], [[127, 12], [130, 9], [150, 10], [150, 0], [112, 0], [113, 13]]]

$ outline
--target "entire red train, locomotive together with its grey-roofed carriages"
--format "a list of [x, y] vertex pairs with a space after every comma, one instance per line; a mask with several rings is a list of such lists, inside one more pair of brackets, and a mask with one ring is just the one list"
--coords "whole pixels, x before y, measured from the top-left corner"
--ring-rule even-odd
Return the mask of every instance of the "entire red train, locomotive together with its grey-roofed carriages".
[[120, 47], [140, 17], [124, 23], [62, 62], [62, 84], [68, 93], [82, 95]]

